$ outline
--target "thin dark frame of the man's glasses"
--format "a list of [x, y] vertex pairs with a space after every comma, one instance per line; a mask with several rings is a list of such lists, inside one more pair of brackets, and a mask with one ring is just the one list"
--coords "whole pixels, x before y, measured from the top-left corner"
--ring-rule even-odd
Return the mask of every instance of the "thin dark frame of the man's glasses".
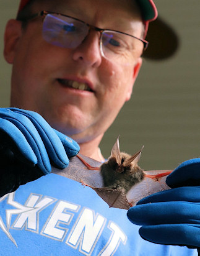
[[[106, 32], [106, 31], [108, 31], [108, 32], [117, 32], [117, 33], [120, 33], [120, 34], [129, 35], [129, 37], [133, 37], [134, 39], [140, 40], [140, 41], [143, 43], [143, 45], [144, 45], [143, 52], [147, 49], [147, 47], [148, 47], [148, 45], [149, 45], [149, 42], [147, 42], [147, 40], [141, 39], [141, 38], [139, 38], [139, 37], [135, 37], [134, 35], [130, 35], [130, 34], [127, 34], [127, 33], [121, 32], [121, 31], [118, 31], [118, 30], [100, 29], [99, 27], [96, 27], [96, 26], [94, 26], [94, 25], [90, 25], [90, 24], [88, 24], [87, 22], [84, 22], [84, 21], [82, 21], [82, 20], [80, 20], [80, 19], [74, 18], [74, 17], [72, 17], [72, 16], [68, 16], [68, 15], [66, 15], [66, 14], [61, 14], [61, 13], [59, 13], [59, 12], [40, 11], [40, 12], [37, 12], [36, 14], [30, 15], [29, 17], [19, 17], [18, 20], [19, 20], [19, 21], [22, 21], [22, 22], [26, 22], [26, 21], [30, 21], [30, 20], [32, 20], [32, 19], [35, 19], [35, 18], [37, 18], [37, 17], [42, 17], [42, 18], [43, 18], [43, 21], [44, 21], [46, 15], [48, 15], [48, 14], [56, 14], [56, 15], [60, 15], [60, 16], [64, 16], [64, 17], [69, 17], [69, 18], [74, 19], [74, 20], [76, 20], [76, 21], [82, 22], [82, 23], [84, 23], [85, 25], [87, 25], [87, 27], [89, 27], [89, 31], [90, 31], [90, 29], [93, 29], [93, 30], [95, 30], [95, 31], [100, 32], [100, 39], [102, 38], [103, 32]], [[100, 42], [102, 42], [102, 40], [100, 40]], [[101, 45], [101, 44], [100, 44], [100, 50], [101, 50], [101, 52], [102, 52], [102, 45]], [[103, 52], [102, 52], [102, 53], [103, 53]], [[104, 56], [104, 54], [103, 54], [103, 56]], [[105, 57], [105, 56], [104, 56], [104, 57]]]

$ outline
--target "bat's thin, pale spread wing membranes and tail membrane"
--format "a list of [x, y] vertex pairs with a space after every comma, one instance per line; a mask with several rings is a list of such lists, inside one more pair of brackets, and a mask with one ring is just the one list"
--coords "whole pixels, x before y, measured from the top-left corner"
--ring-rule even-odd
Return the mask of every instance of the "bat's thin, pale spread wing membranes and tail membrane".
[[[80, 155], [80, 157], [92, 167], [100, 167], [100, 165], [102, 165], [101, 162], [85, 157], [84, 155]], [[69, 166], [64, 170], [58, 170], [52, 167], [51, 172], [89, 186], [96, 191], [98, 196], [100, 196], [109, 207], [113, 208], [129, 209], [131, 206], [136, 205], [137, 201], [149, 196], [149, 194], [169, 189], [165, 183], [167, 176], [159, 178], [157, 181], [146, 177], [140, 183], [134, 185], [127, 194], [119, 189], [105, 188], [103, 187], [103, 178], [100, 170], [89, 170], [78, 157], [71, 158]], [[146, 174], [155, 175], [162, 172], [165, 171], [146, 171]]]

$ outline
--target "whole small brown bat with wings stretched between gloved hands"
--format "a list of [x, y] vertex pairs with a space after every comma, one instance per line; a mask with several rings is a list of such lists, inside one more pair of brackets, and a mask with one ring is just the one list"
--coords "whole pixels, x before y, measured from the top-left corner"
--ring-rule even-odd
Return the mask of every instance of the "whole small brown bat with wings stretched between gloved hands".
[[120, 152], [118, 137], [105, 163], [78, 154], [69, 167], [52, 172], [89, 186], [110, 207], [129, 209], [149, 194], [170, 189], [165, 179], [172, 170], [144, 171], [137, 165], [142, 149], [132, 156]]

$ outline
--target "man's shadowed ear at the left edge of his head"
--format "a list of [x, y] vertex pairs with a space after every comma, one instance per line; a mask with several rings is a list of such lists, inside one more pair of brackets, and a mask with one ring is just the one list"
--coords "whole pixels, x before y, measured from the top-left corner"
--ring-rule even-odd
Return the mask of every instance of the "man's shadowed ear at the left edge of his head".
[[7, 22], [4, 34], [4, 58], [7, 63], [14, 62], [17, 43], [22, 35], [22, 24], [20, 21], [11, 19]]

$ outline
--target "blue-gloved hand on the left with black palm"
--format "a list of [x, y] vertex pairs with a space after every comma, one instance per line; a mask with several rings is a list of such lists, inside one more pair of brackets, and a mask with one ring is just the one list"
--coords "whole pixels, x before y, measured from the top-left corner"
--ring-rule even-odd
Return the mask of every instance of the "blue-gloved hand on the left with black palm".
[[64, 169], [79, 145], [33, 111], [0, 108], [0, 197], [19, 185]]

